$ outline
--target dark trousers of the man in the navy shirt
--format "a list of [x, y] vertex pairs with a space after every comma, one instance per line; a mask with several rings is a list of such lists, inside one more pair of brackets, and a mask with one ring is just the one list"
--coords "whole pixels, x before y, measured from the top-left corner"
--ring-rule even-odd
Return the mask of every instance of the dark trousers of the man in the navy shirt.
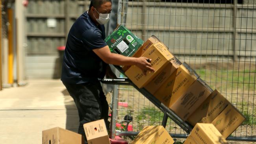
[[87, 144], [83, 124], [104, 119], [107, 129], [109, 128], [106, 96], [102, 91], [100, 81], [82, 84], [68, 84], [63, 82], [63, 84], [76, 103], [79, 115], [78, 133], [83, 135], [85, 144]]

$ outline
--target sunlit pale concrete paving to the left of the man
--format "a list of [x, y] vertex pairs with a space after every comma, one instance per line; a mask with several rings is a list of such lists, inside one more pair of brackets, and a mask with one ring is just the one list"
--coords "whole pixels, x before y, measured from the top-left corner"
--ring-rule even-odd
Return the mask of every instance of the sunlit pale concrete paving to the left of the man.
[[52, 127], [78, 127], [76, 106], [59, 79], [0, 91], [1, 144], [41, 144], [42, 131]]

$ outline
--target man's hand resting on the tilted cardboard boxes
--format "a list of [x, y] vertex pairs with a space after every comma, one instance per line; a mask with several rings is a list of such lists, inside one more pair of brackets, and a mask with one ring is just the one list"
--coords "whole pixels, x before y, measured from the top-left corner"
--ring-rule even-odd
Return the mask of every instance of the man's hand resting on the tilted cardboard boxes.
[[150, 72], [154, 72], [154, 68], [151, 66], [151, 61], [152, 59], [148, 59], [147, 57], [138, 57], [137, 58], [137, 65], [143, 72], [143, 74], [146, 74], [147, 70]]

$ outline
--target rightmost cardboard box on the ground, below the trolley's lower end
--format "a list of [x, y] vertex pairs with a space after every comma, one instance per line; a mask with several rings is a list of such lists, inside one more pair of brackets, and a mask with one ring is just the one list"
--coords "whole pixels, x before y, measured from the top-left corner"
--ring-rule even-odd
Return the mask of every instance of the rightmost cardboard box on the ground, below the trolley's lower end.
[[197, 123], [184, 144], [228, 144], [213, 124]]

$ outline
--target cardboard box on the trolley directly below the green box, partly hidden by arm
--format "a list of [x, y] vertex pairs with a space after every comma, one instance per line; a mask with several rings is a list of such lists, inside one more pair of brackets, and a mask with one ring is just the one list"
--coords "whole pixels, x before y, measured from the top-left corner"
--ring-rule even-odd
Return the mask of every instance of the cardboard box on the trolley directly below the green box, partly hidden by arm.
[[[132, 57], [141, 57], [141, 55], [143, 55], [148, 50], [148, 48], [150, 48], [150, 46], [152, 46], [157, 42], [161, 42], [161, 41], [156, 36], [152, 35], [150, 38], [147, 39], [147, 41], [143, 43], [143, 45], [134, 53], [134, 55], [132, 55]], [[165, 45], [163, 44], [163, 46]], [[166, 46], [165, 48], [168, 49]], [[131, 66], [123, 66], [122, 70], [124, 70], [125, 72], [130, 67]]]

